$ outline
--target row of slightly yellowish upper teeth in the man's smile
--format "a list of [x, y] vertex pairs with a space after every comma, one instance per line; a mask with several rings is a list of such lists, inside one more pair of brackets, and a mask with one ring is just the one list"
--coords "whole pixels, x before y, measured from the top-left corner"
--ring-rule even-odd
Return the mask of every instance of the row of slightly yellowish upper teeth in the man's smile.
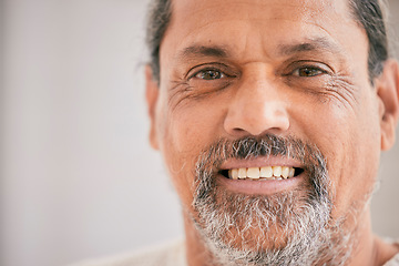
[[264, 166], [233, 168], [228, 171], [231, 180], [287, 180], [295, 176], [295, 168], [288, 166]]

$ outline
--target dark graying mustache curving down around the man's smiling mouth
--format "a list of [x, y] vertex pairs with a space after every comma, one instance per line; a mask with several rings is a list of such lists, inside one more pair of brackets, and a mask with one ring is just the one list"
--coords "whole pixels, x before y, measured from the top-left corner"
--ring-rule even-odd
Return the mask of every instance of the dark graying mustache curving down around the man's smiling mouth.
[[315, 192], [315, 197], [334, 196], [334, 187], [328, 177], [327, 160], [320, 150], [311, 143], [294, 136], [246, 136], [238, 140], [221, 139], [206, 149], [200, 156], [195, 170], [197, 197], [203, 197], [215, 188], [215, 174], [229, 158], [249, 160], [259, 156], [282, 156], [301, 163], [301, 171], [307, 173], [307, 183]]

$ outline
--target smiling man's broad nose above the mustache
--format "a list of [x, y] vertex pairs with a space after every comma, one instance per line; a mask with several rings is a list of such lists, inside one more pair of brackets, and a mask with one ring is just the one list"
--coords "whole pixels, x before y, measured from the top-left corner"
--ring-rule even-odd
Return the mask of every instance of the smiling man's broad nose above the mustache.
[[229, 101], [224, 129], [233, 136], [280, 134], [289, 129], [287, 100], [266, 79], [243, 80]]

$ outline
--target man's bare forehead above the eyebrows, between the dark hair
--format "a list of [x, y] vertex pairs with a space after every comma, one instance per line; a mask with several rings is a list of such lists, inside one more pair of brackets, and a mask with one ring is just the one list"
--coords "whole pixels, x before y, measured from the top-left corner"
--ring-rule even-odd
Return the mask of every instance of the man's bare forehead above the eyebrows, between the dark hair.
[[365, 37], [347, 0], [173, 0], [161, 62], [193, 45], [217, 44], [237, 54], [249, 47], [266, 54], [276, 44], [309, 39], [350, 50], [354, 41], [367, 47]]

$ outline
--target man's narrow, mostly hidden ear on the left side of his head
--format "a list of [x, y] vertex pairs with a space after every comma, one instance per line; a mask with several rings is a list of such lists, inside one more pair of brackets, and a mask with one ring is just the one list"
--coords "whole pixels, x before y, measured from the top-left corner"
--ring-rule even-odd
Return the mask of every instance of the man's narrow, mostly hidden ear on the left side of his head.
[[150, 115], [150, 144], [153, 149], [158, 150], [158, 141], [156, 135], [156, 102], [158, 99], [160, 89], [157, 82], [153, 78], [151, 66], [145, 65], [145, 99], [147, 103], [147, 111]]

